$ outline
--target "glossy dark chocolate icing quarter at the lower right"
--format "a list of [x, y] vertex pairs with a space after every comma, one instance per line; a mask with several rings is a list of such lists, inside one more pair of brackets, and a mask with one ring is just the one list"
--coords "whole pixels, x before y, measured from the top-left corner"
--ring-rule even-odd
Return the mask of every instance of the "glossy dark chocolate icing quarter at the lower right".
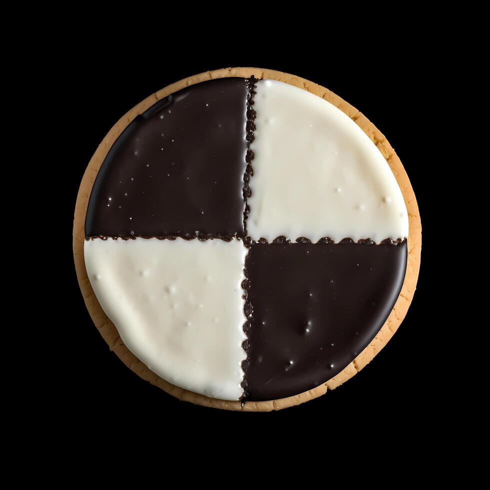
[[247, 400], [295, 395], [345, 368], [393, 308], [406, 254], [406, 240], [252, 243], [243, 281]]

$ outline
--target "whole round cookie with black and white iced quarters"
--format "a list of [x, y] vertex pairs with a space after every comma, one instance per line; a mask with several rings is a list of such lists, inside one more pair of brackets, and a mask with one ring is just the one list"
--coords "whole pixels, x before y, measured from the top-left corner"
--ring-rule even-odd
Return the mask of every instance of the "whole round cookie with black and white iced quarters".
[[322, 394], [413, 295], [420, 225], [401, 163], [362, 114], [300, 80], [230, 68], [177, 82], [121, 119], [80, 186], [90, 314], [181, 399], [246, 411]]

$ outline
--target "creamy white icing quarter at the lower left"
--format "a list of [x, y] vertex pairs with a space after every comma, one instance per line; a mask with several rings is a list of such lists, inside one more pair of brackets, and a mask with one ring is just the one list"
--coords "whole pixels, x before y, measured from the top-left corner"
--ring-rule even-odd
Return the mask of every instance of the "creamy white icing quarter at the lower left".
[[242, 242], [93, 239], [84, 259], [93, 291], [126, 347], [184, 389], [243, 393]]

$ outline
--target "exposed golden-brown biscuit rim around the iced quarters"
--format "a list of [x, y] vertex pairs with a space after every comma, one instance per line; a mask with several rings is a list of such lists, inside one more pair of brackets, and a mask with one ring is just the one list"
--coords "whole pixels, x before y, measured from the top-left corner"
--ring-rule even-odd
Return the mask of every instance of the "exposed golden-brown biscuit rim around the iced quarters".
[[[156, 100], [167, 96], [174, 91], [183, 88], [187, 85], [197, 83], [199, 81], [205, 81], [211, 78], [220, 78], [227, 76], [241, 76], [250, 77], [254, 75], [257, 79], [269, 78], [274, 80], [279, 80], [290, 85], [298, 86], [303, 88], [315, 95], [321, 96], [325, 100], [333, 103], [345, 114], [351, 117], [358, 125], [363, 129], [363, 131], [369, 136], [369, 138], [377, 146], [381, 154], [387, 160], [393, 174], [398, 182], [398, 185], [402, 191], [403, 198], [405, 201], [406, 209], [408, 211], [409, 220], [409, 234], [408, 234], [408, 256], [407, 256], [407, 269], [404, 277], [403, 286], [400, 295], [396, 301], [393, 311], [388, 316], [383, 327], [379, 330], [378, 334], [369, 343], [369, 345], [345, 368], [342, 372], [331, 378], [330, 380], [320, 384], [318, 387], [308, 390], [304, 393], [290, 396], [287, 398], [282, 398], [273, 401], [261, 401], [261, 402], [246, 402], [244, 406], [241, 405], [239, 401], [223, 401], [208, 398], [203, 395], [195, 394], [186, 390], [182, 390], [176, 386], [171, 385], [167, 381], [156, 376], [152, 371], [150, 371], [142, 362], [140, 362], [136, 357], [134, 357], [124, 346], [119, 338], [117, 330], [113, 324], [107, 319], [105, 313], [102, 311], [100, 305], [98, 304], [93, 291], [91, 289], [90, 283], [86, 277], [85, 264], [83, 259], [83, 242], [84, 242], [84, 229], [83, 223], [85, 220], [85, 212], [88, 201], [88, 196], [91, 191], [94, 177], [96, 172], [100, 168], [102, 161], [104, 160], [108, 150], [110, 149], [112, 143], [116, 140], [120, 132], [126, 127], [126, 125], [137, 115], [143, 113], [148, 107], [150, 107]], [[73, 229], [73, 251], [75, 257], [75, 266], [77, 270], [78, 279], [80, 282], [80, 287], [82, 293], [85, 297], [85, 302], [87, 308], [94, 320], [99, 331], [108, 342], [111, 349], [115, 350], [116, 354], [128, 365], [132, 370], [137, 372], [144, 379], [159, 385], [165, 391], [177, 396], [178, 398], [192, 401], [198, 404], [208, 405], [208, 406], [218, 406], [221, 408], [228, 409], [241, 409], [241, 410], [269, 410], [278, 409], [285, 406], [290, 406], [297, 404], [299, 402], [305, 401], [311, 397], [318, 396], [326, 391], [327, 388], [334, 388], [344, 380], [348, 379], [350, 376], [355, 374], [357, 370], [362, 368], [380, 348], [389, 339], [392, 333], [396, 330], [397, 326], [401, 322], [406, 309], [409, 305], [411, 297], [413, 295], [416, 278], [418, 274], [418, 264], [420, 256], [420, 220], [418, 217], [418, 209], [413, 195], [413, 191], [403, 170], [401, 162], [395, 155], [392, 148], [389, 146], [387, 141], [384, 139], [382, 134], [374, 128], [374, 126], [365, 119], [365, 117], [358, 111], [349, 106], [346, 102], [329, 92], [328, 90], [315, 85], [307, 80], [294, 77], [292, 75], [287, 75], [279, 72], [272, 71], [262, 71], [255, 68], [230, 68], [225, 70], [216, 70], [212, 72], [202, 73], [194, 77], [190, 77], [186, 80], [181, 80], [175, 84], [170, 85], [166, 89], [163, 89], [151, 97], [148, 97], [140, 104], [138, 104], [134, 109], [128, 112], [121, 120], [112, 128], [104, 142], [99, 146], [96, 153], [92, 157], [87, 171], [82, 180], [80, 186], [80, 191], [77, 198], [76, 209], [75, 209], [75, 221]]]

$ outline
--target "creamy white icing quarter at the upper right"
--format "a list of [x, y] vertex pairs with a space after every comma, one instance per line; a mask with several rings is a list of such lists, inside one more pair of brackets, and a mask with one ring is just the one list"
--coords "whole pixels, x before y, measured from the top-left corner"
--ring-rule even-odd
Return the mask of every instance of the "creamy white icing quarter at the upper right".
[[405, 238], [408, 216], [386, 160], [355, 122], [317, 95], [259, 80], [247, 234], [313, 242]]

